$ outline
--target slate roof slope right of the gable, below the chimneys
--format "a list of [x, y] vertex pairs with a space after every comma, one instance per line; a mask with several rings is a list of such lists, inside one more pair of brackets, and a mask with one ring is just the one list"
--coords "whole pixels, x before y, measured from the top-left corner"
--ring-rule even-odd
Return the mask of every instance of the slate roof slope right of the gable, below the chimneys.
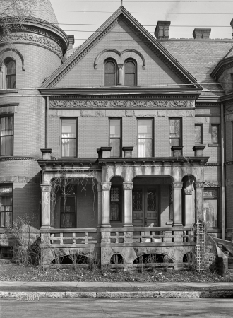
[[201, 95], [224, 95], [222, 87], [210, 74], [227, 53], [232, 54], [233, 40], [171, 39], [161, 40], [160, 43], [203, 86]]

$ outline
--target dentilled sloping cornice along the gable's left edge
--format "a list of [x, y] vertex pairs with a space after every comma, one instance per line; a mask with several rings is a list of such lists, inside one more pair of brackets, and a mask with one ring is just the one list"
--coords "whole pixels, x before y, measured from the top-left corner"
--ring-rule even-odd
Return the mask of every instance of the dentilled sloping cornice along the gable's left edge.
[[61, 78], [63, 78], [66, 75], [66, 73], [68, 73], [68, 71], [71, 71], [73, 66], [76, 65], [81, 59], [83, 59], [83, 57], [85, 57], [85, 55], [88, 54], [88, 52], [90, 52], [90, 49], [92, 49], [92, 47], [95, 47], [95, 45], [97, 45], [97, 43], [100, 40], [102, 40], [102, 37], [104, 37], [109, 32], [109, 30], [111, 30], [114, 27], [114, 25], [116, 25], [118, 22], [119, 18], [114, 20], [114, 22], [111, 23], [107, 29], [100, 33], [100, 35], [95, 39], [95, 41], [92, 41], [83, 52], [80, 52], [78, 57], [76, 57], [76, 59], [74, 59], [73, 62], [69, 64], [66, 67], [66, 69], [64, 69], [64, 71], [49, 85], [49, 87], [53, 87], [54, 85], [56, 85], [56, 83], [58, 83], [61, 80]]

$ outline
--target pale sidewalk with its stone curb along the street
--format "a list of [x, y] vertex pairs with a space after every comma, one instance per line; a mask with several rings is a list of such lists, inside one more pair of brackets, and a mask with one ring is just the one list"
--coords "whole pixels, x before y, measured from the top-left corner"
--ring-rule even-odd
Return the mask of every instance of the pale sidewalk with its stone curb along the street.
[[0, 298], [233, 298], [233, 283], [1, 281]]

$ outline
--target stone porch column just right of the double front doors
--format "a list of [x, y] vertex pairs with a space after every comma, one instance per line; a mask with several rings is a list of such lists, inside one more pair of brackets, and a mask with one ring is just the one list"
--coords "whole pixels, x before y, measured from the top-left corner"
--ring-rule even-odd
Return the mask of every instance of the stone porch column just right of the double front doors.
[[182, 187], [183, 182], [172, 182], [173, 224], [182, 226]]

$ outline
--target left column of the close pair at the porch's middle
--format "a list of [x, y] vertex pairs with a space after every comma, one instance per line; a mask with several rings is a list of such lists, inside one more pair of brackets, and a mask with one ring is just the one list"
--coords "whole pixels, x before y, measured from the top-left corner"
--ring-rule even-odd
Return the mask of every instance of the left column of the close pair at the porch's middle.
[[110, 228], [110, 189], [111, 182], [102, 182], [102, 228]]

